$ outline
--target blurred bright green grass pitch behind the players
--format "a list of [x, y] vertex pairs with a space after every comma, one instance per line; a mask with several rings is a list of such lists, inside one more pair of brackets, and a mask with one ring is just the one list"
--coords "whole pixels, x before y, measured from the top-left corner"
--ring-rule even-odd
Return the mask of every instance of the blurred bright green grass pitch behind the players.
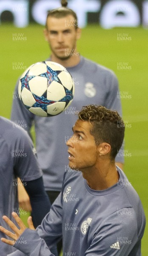
[[[26, 40], [16, 41], [14, 34], [21, 34]], [[43, 26], [18, 29], [3, 24], [0, 35], [0, 115], [9, 118], [18, 76], [29, 65], [45, 60], [50, 50], [43, 37]], [[119, 79], [127, 126], [124, 171], [137, 190], [148, 218], [148, 30], [141, 27], [103, 30], [98, 25], [88, 26], [83, 29], [78, 50], [114, 70]], [[16, 63], [22, 63], [21, 70], [13, 68]], [[120, 69], [121, 66], [127, 69]], [[148, 255], [147, 237], [148, 225], [142, 239], [142, 256]]]

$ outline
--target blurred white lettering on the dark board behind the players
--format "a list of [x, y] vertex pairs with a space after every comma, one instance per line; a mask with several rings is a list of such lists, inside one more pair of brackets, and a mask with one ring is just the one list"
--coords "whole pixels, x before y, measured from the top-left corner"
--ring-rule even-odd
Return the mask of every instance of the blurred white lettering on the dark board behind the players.
[[[77, 13], [80, 27], [87, 26], [88, 13], [97, 13], [97, 22], [104, 29], [137, 27], [141, 24], [148, 27], [148, 0], [139, 1], [138, 4], [133, 0], [69, 0], [68, 8]], [[0, 16], [5, 11], [11, 12], [17, 27], [28, 26], [30, 20], [45, 25], [48, 10], [58, 7], [60, 0], [0, 0]]]

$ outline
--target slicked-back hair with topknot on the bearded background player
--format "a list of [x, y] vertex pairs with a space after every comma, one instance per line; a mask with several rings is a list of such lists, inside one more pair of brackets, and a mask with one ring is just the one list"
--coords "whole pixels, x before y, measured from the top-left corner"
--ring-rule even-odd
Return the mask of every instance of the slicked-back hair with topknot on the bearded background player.
[[[68, 5], [67, 0], [61, 0], [61, 5], [62, 5], [62, 7], [60, 7], [60, 8], [50, 10], [47, 14], [47, 19], [48, 19], [48, 17], [63, 18], [68, 15], [72, 15], [74, 17], [74, 27], [75, 27], [75, 29], [77, 29], [78, 21], [77, 21], [76, 13], [73, 10], [67, 8], [67, 5]], [[47, 19], [46, 19], [46, 29], [48, 29]]]

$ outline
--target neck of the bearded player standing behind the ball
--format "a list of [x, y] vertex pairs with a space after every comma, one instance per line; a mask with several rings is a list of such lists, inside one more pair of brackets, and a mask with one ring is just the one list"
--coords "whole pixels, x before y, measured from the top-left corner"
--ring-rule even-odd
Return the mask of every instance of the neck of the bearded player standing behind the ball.
[[[77, 53], [77, 54], [76, 54]], [[69, 58], [62, 59], [55, 56], [53, 53], [51, 54], [51, 61], [61, 64], [63, 67], [74, 67], [80, 62], [80, 54], [78, 52], [74, 52], [75, 55], [70, 56]]]

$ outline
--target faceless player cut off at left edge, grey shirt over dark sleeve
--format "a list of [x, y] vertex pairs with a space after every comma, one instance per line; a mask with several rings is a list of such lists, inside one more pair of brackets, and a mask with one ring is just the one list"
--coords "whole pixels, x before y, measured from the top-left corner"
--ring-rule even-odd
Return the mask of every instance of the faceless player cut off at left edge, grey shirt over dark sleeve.
[[[43, 173], [37, 162], [33, 143], [23, 128], [0, 116], [0, 224], [6, 225], [2, 216], [11, 212], [26, 214], [19, 209], [17, 198], [17, 177], [20, 177], [31, 201], [32, 220], [35, 226], [41, 224], [51, 204], [43, 186]], [[0, 232], [0, 238], [3, 234]], [[0, 241], [0, 256], [6, 256], [15, 249]], [[52, 251], [52, 249], [51, 249]], [[56, 247], [53, 249], [56, 252]]]

